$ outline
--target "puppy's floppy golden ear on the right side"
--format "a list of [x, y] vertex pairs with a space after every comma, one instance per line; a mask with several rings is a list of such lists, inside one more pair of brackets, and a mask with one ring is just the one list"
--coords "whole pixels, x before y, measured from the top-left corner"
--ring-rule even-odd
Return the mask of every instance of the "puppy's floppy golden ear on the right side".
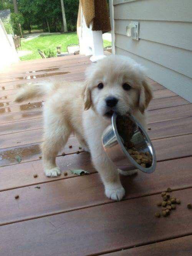
[[149, 102], [152, 100], [151, 86], [146, 80], [142, 81], [142, 86], [139, 95], [139, 110], [143, 114]]

